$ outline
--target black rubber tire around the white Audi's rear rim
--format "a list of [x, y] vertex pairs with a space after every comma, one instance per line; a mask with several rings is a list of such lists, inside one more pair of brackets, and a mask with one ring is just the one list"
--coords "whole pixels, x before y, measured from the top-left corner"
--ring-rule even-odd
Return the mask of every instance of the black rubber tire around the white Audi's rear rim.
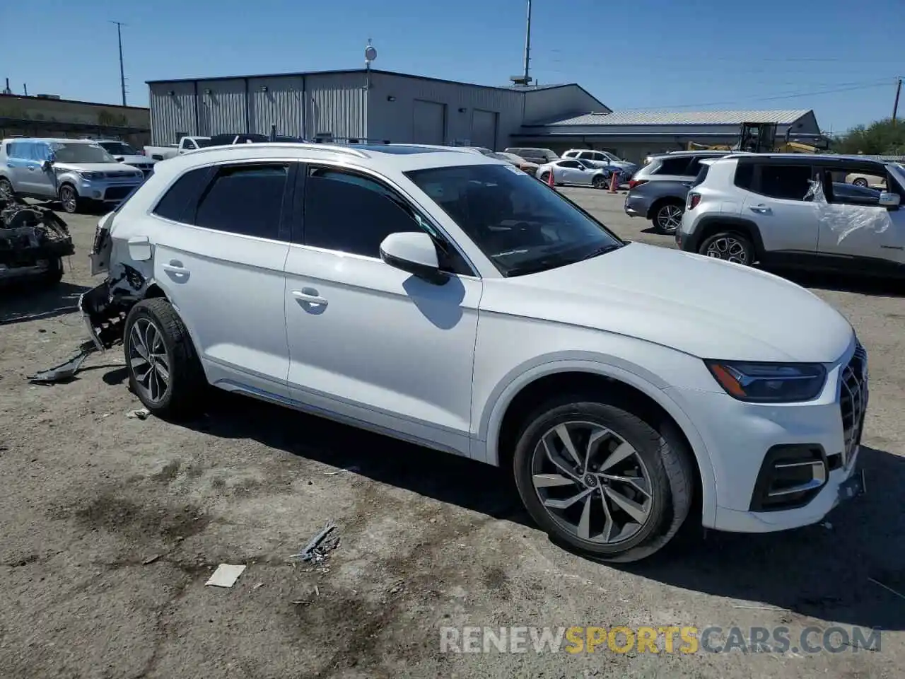
[[[133, 327], [139, 320], [149, 321], [155, 326], [167, 352], [169, 381], [163, 396], [157, 400], [148, 397], [145, 388], [139, 385], [131, 360], [135, 343]], [[191, 417], [198, 412], [204, 400], [201, 396], [206, 390], [207, 380], [186, 325], [169, 301], [155, 297], [139, 301], [132, 307], [123, 331], [123, 351], [129, 371], [129, 387], [148, 411], [171, 420]]]

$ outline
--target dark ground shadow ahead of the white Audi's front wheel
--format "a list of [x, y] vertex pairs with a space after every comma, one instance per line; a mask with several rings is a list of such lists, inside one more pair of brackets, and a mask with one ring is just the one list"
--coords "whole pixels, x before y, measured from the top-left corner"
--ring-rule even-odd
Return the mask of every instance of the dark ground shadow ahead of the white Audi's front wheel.
[[[619, 567], [663, 584], [746, 599], [845, 625], [905, 629], [905, 457], [862, 446], [867, 494], [814, 526], [778, 533], [682, 536]], [[720, 625], [718, 621], [714, 624]], [[726, 621], [725, 626], [728, 626]]]

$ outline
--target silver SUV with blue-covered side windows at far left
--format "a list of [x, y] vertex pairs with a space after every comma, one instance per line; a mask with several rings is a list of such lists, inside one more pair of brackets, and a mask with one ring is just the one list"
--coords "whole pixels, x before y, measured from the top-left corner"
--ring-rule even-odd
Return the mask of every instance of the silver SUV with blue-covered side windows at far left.
[[119, 205], [144, 179], [90, 139], [0, 142], [0, 196], [59, 198], [73, 213], [89, 202]]

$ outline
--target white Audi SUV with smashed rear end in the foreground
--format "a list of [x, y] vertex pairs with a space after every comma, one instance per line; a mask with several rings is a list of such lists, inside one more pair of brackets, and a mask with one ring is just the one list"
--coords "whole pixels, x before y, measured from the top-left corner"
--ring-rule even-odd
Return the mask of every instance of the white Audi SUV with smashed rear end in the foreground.
[[695, 498], [704, 526], [779, 531], [861, 488], [867, 358], [842, 315], [626, 243], [480, 154], [201, 149], [100, 220], [91, 262], [90, 333], [157, 416], [210, 384], [502, 465], [599, 558], [659, 550]]

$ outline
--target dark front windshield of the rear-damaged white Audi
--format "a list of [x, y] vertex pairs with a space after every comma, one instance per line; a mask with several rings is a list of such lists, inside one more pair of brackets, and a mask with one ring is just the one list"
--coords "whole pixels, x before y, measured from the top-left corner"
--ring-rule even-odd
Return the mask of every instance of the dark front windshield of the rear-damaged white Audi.
[[405, 173], [504, 276], [580, 262], [624, 243], [581, 208], [510, 165]]

